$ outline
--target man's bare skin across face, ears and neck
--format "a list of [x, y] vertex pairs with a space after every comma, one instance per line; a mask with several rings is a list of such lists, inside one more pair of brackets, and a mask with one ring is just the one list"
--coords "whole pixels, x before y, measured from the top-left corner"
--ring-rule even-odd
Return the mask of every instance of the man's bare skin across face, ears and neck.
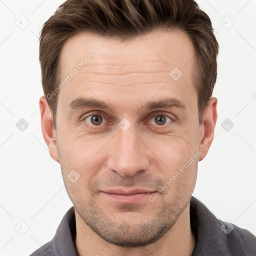
[[[42, 134], [74, 205], [78, 254], [191, 255], [189, 201], [217, 118], [217, 99], [211, 97], [203, 123], [198, 121], [192, 42], [180, 30], [154, 30], [126, 41], [79, 33], [62, 48], [62, 78], [94, 48], [98, 53], [58, 92], [56, 130], [45, 96], [39, 100]], [[177, 80], [169, 75], [173, 67], [183, 73]], [[116, 109], [68, 108], [77, 97]], [[166, 97], [185, 108], [144, 107]], [[91, 115], [102, 122], [95, 125]], [[118, 126], [123, 118], [130, 125], [126, 131]], [[196, 152], [198, 158], [150, 201]], [[72, 169], [80, 175], [74, 183], [67, 178]], [[102, 192], [112, 188], [155, 192], [126, 203]]]

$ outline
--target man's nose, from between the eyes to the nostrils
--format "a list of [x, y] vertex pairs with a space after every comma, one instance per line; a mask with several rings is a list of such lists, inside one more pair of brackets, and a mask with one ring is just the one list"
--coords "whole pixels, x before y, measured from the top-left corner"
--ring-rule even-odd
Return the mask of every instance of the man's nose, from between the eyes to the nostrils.
[[107, 167], [122, 176], [133, 176], [149, 167], [148, 148], [130, 127], [127, 131], [117, 128], [117, 134], [108, 144]]

